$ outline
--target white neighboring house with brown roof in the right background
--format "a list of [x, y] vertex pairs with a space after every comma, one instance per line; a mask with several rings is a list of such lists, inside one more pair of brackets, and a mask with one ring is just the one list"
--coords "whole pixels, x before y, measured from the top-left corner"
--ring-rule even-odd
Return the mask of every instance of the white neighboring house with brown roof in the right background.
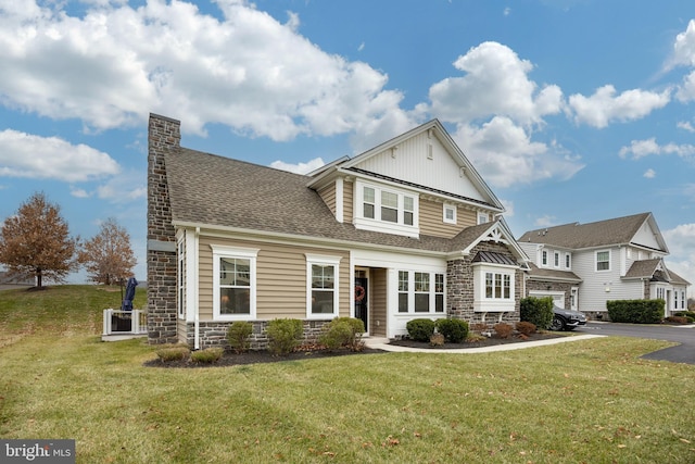
[[687, 309], [690, 283], [667, 268], [669, 250], [652, 213], [529, 230], [518, 243], [532, 261], [526, 296], [549, 296], [595, 318], [609, 300], [660, 298], [665, 316]]

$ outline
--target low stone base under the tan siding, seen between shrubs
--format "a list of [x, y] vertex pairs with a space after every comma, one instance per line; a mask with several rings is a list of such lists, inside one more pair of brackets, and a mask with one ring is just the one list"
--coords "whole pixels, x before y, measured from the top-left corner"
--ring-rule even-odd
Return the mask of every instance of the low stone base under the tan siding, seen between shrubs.
[[[318, 336], [321, 333], [324, 324], [330, 321], [303, 321], [304, 323], [304, 339], [303, 344], [314, 344], [318, 341]], [[228, 348], [227, 343], [227, 329], [232, 323], [230, 322], [201, 322], [200, 323], [200, 346], [201, 349], [210, 347], [223, 347]], [[268, 321], [254, 321], [253, 331], [251, 333], [251, 349], [252, 350], [266, 350], [268, 348], [268, 336], [265, 331]], [[187, 342], [191, 347], [193, 346], [195, 338], [194, 324], [187, 324]]]

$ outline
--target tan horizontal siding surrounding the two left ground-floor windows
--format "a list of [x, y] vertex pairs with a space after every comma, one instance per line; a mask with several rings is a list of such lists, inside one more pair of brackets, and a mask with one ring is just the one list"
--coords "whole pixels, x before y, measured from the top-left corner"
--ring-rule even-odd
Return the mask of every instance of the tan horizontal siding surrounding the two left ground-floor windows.
[[340, 256], [339, 312], [350, 315], [350, 252], [326, 250], [299, 244], [237, 240], [220, 237], [200, 237], [200, 318], [213, 319], [213, 251], [211, 244], [257, 249], [256, 256], [256, 319], [306, 318], [306, 255]]

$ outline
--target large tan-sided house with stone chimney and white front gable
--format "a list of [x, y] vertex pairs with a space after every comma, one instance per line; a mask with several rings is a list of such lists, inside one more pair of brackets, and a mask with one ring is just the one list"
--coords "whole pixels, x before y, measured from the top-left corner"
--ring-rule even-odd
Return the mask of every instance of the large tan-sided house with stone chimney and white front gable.
[[299, 175], [180, 147], [151, 114], [148, 330], [224, 342], [274, 318], [311, 339], [337, 316], [396, 338], [413, 318], [519, 319], [527, 258], [504, 208], [438, 121]]

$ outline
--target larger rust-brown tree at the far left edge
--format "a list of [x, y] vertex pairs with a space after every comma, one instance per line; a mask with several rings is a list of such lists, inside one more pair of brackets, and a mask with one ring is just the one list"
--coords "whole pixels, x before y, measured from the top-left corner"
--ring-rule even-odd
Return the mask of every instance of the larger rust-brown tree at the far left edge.
[[60, 206], [46, 195], [34, 193], [4, 220], [0, 229], [0, 263], [11, 276], [36, 277], [36, 288], [43, 288], [43, 279], [65, 281], [78, 266], [75, 252], [79, 237], [71, 238]]

